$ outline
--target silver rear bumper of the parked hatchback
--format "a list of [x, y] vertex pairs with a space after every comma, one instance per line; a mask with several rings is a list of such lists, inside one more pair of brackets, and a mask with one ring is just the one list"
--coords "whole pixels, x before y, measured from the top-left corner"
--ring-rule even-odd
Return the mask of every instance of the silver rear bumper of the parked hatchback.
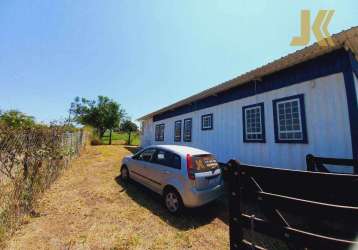
[[224, 185], [221, 183], [220, 185], [205, 190], [190, 188], [182, 195], [182, 199], [186, 207], [199, 207], [219, 198], [223, 193]]

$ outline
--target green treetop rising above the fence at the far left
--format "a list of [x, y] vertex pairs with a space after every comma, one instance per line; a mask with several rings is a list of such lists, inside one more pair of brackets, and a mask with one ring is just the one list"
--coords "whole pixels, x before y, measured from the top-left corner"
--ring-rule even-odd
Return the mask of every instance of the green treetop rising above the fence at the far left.
[[31, 127], [35, 125], [35, 118], [18, 110], [9, 110], [0, 114], [0, 122], [14, 128]]

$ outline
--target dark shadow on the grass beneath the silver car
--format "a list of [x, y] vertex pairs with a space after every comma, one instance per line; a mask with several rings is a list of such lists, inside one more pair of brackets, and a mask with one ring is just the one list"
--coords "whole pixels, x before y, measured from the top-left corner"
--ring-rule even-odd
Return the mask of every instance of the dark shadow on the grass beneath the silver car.
[[117, 176], [115, 181], [123, 188], [121, 192], [126, 192], [135, 202], [179, 230], [195, 229], [211, 223], [216, 218], [225, 224], [229, 223], [228, 204], [225, 197], [202, 207], [185, 209], [181, 215], [174, 216], [166, 210], [159, 194], [134, 181], [123, 183], [120, 176]]

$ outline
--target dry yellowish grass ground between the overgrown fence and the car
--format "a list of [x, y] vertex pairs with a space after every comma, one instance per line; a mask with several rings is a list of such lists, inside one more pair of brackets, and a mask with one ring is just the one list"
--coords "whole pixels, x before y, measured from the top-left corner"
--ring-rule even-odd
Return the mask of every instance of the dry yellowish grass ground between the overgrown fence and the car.
[[118, 182], [122, 146], [87, 149], [39, 201], [7, 249], [227, 249], [225, 205], [180, 217], [146, 188]]

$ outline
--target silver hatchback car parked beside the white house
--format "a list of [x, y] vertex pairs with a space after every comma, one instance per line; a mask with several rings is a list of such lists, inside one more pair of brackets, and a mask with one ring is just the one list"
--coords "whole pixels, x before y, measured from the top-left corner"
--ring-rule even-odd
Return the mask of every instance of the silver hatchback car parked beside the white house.
[[171, 213], [198, 207], [223, 193], [221, 169], [209, 152], [179, 145], [155, 145], [122, 160], [121, 178], [159, 193]]

